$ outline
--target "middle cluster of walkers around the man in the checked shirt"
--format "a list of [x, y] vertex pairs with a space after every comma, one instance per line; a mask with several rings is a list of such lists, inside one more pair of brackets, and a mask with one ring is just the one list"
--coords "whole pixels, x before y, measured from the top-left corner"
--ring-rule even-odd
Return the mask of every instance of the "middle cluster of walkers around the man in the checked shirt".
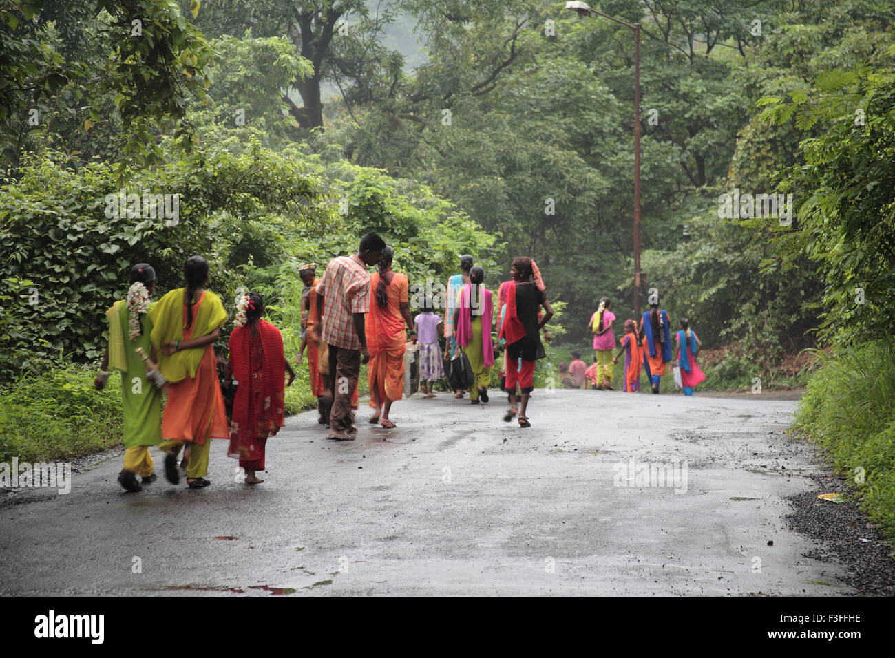
[[[431, 297], [424, 299], [420, 312], [411, 317], [408, 280], [391, 269], [393, 259], [394, 252], [379, 236], [365, 235], [359, 252], [329, 261], [322, 278], [313, 276], [316, 265], [303, 266], [301, 273], [311, 301], [302, 350], [307, 346], [312, 384], [318, 382], [313, 392], [319, 400], [320, 423], [328, 424], [328, 438], [353, 440], [357, 433], [354, 420], [361, 363], [369, 362], [367, 378], [374, 410], [369, 423], [396, 427], [390, 414], [392, 405], [403, 397], [408, 347], [418, 352], [424, 395], [436, 396], [434, 383], [445, 377], [445, 362], [448, 368], [456, 367], [452, 363], [462, 353], [472, 372], [470, 401], [482, 404], [490, 401], [495, 354], [506, 346], [504, 363], [508, 359], [516, 368], [500, 368], [501, 373], [507, 372], [501, 385], [509, 401], [504, 419], [509, 422], [518, 414], [519, 425], [530, 427], [525, 413], [533, 389], [534, 361], [544, 356], [540, 329], [553, 314], [537, 264], [525, 257], [513, 261], [511, 280], [500, 286], [498, 316], [493, 294], [484, 286], [484, 269], [474, 264], [471, 255], [461, 256], [461, 272], [448, 280], [442, 320]], [[373, 265], [377, 272], [368, 275], [366, 267]], [[442, 337], [443, 358], [439, 348]], [[328, 355], [328, 369], [320, 364], [323, 354]], [[327, 370], [330, 376], [324, 373]], [[521, 408], [516, 404], [517, 388]], [[354, 397], [353, 406], [348, 404], [349, 395]], [[464, 390], [456, 389], [455, 397], [464, 397]]]

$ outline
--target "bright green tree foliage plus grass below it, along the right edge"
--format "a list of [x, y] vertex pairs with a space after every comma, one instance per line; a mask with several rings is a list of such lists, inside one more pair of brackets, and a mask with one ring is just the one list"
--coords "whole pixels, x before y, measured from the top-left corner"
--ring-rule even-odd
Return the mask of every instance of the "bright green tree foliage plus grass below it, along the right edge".
[[853, 43], [863, 62], [825, 62], [804, 87], [762, 100], [763, 118], [805, 132], [800, 161], [777, 174], [780, 189], [798, 195], [797, 224], [774, 235], [764, 267], [779, 262], [788, 277], [808, 259], [823, 282], [814, 306], [833, 350], [809, 382], [797, 427], [895, 538], [895, 47]]

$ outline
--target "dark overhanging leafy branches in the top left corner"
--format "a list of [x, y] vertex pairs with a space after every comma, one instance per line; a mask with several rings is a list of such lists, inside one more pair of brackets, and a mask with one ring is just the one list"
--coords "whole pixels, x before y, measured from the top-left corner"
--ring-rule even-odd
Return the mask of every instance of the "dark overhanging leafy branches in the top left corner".
[[[205, 95], [212, 53], [175, 2], [0, 0], [0, 9], [4, 158], [18, 165], [24, 151], [52, 144], [71, 157], [114, 158], [121, 174], [130, 158], [164, 159], [159, 129], [192, 148], [185, 98]], [[111, 130], [87, 139], [102, 124]]]

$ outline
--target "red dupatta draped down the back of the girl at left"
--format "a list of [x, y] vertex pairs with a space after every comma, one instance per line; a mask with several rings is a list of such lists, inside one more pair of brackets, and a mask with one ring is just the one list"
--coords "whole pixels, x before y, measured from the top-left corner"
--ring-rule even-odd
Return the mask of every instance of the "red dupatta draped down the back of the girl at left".
[[230, 365], [236, 397], [230, 427], [229, 454], [241, 446], [277, 433], [284, 425], [283, 389], [286, 360], [279, 329], [266, 320], [237, 327], [230, 334]]

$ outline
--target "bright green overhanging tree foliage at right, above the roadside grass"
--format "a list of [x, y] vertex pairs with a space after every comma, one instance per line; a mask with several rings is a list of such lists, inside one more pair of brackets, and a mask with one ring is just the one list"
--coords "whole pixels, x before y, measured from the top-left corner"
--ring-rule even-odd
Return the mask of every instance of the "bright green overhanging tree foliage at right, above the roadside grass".
[[[895, 55], [895, 47], [888, 54]], [[887, 61], [891, 64], [891, 60]], [[803, 164], [781, 173], [797, 190], [797, 231], [781, 235], [788, 269], [806, 255], [825, 283], [823, 337], [848, 343], [891, 336], [895, 323], [895, 73], [869, 66], [821, 73], [791, 102], [766, 98], [766, 115], [795, 115]]]

